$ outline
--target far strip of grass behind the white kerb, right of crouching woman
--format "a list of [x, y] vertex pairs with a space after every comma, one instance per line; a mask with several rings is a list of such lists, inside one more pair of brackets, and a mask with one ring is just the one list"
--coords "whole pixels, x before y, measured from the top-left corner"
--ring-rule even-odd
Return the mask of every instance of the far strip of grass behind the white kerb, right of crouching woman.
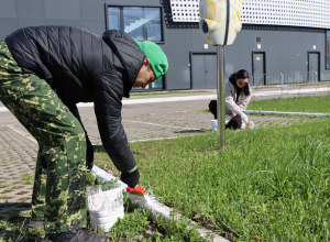
[[250, 102], [249, 110], [330, 113], [330, 96], [278, 98]]

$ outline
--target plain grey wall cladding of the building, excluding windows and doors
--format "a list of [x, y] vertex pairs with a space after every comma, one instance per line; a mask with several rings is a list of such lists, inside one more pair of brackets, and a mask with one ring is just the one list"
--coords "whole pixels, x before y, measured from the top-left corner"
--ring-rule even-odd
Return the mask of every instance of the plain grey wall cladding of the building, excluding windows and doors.
[[[106, 31], [106, 4], [163, 7], [161, 0], [0, 0], [0, 40], [20, 26], [61, 24], [84, 28], [101, 35]], [[164, 9], [163, 9], [164, 10]], [[199, 29], [187, 25], [166, 26], [163, 12], [164, 43], [160, 46], [168, 57], [165, 76], [167, 89], [189, 89], [191, 52], [217, 52], [207, 44]], [[244, 28], [245, 26], [245, 28]], [[260, 45], [260, 48], [257, 48]], [[226, 46], [226, 77], [246, 69], [252, 75], [252, 52], [264, 52], [266, 73], [308, 70], [308, 52], [320, 52], [320, 80], [330, 79], [326, 69], [326, 31], [310, 28], [243, 25], [234, 43]], [[205, 81], [205, 80], [204, 80]]]

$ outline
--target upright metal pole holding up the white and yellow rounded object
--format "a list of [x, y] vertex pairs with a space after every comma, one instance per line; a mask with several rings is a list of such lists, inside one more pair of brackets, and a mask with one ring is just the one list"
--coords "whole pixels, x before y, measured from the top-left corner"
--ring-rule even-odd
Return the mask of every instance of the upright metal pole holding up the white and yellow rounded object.
[[226, 72], [224, 72], [224, 46], [223, 45], [217, 46], [217, 56], [218, 56], [218, 66], [217, 66], [218, 141], [219, 141], [219, 148], [224, 150], [224, 147], [226, 147], [226, 141], [224, 141], [224, 130], [226, 130], [224, 79], [226, 79]]

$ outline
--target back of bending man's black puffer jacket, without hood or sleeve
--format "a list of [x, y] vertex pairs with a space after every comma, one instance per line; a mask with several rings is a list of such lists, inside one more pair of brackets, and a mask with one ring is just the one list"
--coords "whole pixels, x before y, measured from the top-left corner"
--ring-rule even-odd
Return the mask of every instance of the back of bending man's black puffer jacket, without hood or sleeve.
[[111, 62], [102, 58], [105, 52], [111, 56], [111, 50], [100, 36], [73, 26], [23, 28], [8, 35], [6, 43], [24, 72], [79, 101], [92, 100], [94, 75], [102, 72], [101, 62]]

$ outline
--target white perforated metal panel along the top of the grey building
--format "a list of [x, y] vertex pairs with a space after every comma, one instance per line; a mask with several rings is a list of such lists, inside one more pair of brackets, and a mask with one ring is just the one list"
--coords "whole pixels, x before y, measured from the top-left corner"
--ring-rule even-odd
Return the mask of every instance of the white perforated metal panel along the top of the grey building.
[[[169, 0], [173, 22], [199, 22], [199, 0]], [[330, 29], [330, 0], [242, 0], [242, 23]]]

